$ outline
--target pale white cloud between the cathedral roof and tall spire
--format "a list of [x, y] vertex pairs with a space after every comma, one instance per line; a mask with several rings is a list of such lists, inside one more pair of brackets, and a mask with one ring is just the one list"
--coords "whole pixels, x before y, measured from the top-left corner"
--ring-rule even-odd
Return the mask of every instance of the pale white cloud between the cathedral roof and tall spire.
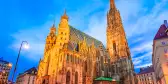
[[85, 33], [106, 44], [106, 14], [95, 14], [90, 18], [88, 28], [84, 30]]

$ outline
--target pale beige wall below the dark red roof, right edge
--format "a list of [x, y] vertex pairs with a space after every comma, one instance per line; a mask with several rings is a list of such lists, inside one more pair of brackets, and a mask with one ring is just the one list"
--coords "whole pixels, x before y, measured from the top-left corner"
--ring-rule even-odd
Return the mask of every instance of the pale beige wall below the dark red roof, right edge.
[[156, 79], [162, 84], [168, 83], [168, 39], [158, 39], [153, 43], [152, 63]]

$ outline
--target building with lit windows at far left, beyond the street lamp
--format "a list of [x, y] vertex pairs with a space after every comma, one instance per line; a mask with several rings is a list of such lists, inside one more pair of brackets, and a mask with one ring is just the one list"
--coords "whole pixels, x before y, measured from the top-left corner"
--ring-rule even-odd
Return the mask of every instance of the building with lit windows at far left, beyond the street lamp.
[[8, 82], [8, 76], [12, 64], [0, 58], [0, 84], [6, 84]]

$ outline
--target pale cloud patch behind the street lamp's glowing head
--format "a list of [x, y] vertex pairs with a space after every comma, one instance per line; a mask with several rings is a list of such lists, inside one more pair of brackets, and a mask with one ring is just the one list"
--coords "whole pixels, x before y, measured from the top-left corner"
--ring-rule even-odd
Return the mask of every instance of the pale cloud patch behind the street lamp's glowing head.
[[14, 41], [9, 46], [9, 48], [18, 52], [21, 42], [27, 41], [29, 43], [30, 48], [28, 50], [22, 48], [23, 56], [34, 61], [38, 61], [43, 56], [45, 38], [49, 32], [51, 24], [51, 22], [47, 22], [41, 26], [35, 26], [11, 34], [11, 37], [14, 38]]

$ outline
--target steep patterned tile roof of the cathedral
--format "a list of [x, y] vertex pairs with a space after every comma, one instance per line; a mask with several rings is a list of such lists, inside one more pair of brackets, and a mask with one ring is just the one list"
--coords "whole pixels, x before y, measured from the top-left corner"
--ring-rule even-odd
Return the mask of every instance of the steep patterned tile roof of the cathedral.
[[[86, 41], [87, 45], [90, 46], [94, 42], [94, 45], [96, 48], [99, 47], [99, 45], [103, 45], [101, 41], [85, 34], [84, 32], [77, 30], [76, 28], [69, 26], [70, 27], [70, 41], [71, 42], [81, 42], [81, 41]], [[72, 45], [72, 44], [69, 44]], [[104, 47], [104, 46], [103, 46]]]

